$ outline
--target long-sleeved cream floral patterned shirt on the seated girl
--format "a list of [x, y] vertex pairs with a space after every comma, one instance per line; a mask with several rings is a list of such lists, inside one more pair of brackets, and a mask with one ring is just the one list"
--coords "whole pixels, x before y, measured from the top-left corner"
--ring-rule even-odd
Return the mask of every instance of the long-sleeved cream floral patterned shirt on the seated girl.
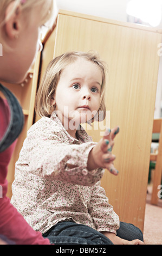
[[100, 186], [104, 170], [87, 169], [96, 143], [81, 126], [77, 138], [69, 135], [55, 113], [31, 126], [16, 162], [11, 203], [43, 234], [63, 220], [116, 233], [119, 217]]

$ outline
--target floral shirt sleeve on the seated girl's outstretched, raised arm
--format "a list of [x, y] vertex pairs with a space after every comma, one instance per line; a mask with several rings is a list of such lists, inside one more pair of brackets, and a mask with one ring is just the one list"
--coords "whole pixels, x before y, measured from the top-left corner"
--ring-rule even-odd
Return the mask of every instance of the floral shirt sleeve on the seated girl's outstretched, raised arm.
[[[43, 178], [92, 186], [102, 178], [104, 172], [102, 168], [87, 169], [88, 155], [95, 145], [95, 142], [63, 143], [60, 131], [47, 133], [46, 129], [42, 129], [28, 133], [20, 161], [28, 164], [30, 173]], [[69, 168], [69, 164], [72, 168]]]

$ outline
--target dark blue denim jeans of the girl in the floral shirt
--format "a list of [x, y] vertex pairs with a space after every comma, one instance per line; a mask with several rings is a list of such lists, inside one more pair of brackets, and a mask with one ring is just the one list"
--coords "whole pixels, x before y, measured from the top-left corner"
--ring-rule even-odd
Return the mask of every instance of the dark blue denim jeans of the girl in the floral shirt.
[[[129, 241], [134, 239], [143, 241], [141, 230], [133, 224], [120, 222], [116, 235]], [[50, 243], [55, 245], [113, 245], [112, 241], [99, 231], [72, 221], [57, 223], [43, 237], [47, 237]]]

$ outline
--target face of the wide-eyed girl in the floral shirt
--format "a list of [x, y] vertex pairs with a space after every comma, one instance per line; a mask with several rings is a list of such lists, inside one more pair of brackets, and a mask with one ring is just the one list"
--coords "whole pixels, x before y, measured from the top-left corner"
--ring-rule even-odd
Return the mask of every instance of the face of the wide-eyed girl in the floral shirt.
[[64, 126], [68, 123], [68, 129], [73, 130], [70, 123], [73, 126], [74, 122], [70, 120], [79, 124], [94, 117], [100, 106], [101, 84], [102, 72], [89, 60], [77, 58], [63, 69], [53, 105]]

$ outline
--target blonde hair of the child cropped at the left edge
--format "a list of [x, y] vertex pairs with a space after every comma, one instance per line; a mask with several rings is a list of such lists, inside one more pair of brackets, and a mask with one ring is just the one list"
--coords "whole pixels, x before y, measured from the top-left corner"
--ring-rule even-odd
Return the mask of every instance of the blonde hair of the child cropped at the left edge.
[[[8, 5], [13, 2], [13, 0], [0, 0], [0, 28], [5, 25], [5, 22], [7, 22], [10, 18], [10, 16], [16, 11], [18, 5], [22, 6], [22, 12], [25, 15], [29, 15], [31, 8], [35, 8], [38, 5], [42, 5], [41, 12], [38, 14], [40, 16], [41, 25], [46, 23], [51, 19], [54, 13], [54, 2], [53, 0], [14, 0], [15, 5], [14, 8], [11, 10], [11, 12], [8, 14], [7, 17], [5, 17], [5, 10], [7, 9]], [[49, 25], [51, 26], [51, 25]], [[1, 43], [3, 40], [3, 36], [0, 29], [0, 38]], [[5, 45], [5, 42], [4, 42]]]

